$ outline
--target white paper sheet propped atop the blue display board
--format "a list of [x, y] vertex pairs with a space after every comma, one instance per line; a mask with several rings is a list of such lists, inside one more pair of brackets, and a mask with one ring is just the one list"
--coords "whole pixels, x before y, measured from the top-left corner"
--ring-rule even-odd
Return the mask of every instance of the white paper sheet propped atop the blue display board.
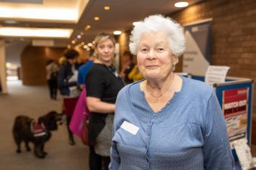
[[204, 81], [212, 86], [213, 84], [225, 82], [229, 66], [209, 66]]

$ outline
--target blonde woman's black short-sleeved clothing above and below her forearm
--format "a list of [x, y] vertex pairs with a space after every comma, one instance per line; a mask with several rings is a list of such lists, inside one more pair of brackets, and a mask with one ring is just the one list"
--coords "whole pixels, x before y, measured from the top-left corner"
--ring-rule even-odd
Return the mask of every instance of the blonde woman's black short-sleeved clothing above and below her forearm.
[[[100, 101], [109, 104], [115, 104], [118, 92], [124, 86], [123, 80], [115, 71], [115, 67], [105, 66], [104, 64], [93, 64], [85, 82], [87, 96], [96, 97]], [[107, 115], [97, 112], [90, 113], [90, 122], [88, 124], [90, 145], [95, 143], [95, 139], [105, 126], [105, 117]]]

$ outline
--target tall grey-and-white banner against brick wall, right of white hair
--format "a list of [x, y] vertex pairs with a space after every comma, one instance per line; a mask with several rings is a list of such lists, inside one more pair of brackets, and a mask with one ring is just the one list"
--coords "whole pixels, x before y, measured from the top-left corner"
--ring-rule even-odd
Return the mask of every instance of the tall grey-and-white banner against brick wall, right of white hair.
[[210, 65], [212, 19], [184, 26], [186, 49], [182, 71], [196, 76], [204, 76]]

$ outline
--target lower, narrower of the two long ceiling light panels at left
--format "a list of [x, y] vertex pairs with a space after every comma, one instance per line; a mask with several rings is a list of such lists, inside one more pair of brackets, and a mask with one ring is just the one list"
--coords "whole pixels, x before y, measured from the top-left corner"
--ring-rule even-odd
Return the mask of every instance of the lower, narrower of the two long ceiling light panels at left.
[[23, 27], [0, 27], [0, 36], [47, 37], [69, 39], [72, 29], [39, 29]]

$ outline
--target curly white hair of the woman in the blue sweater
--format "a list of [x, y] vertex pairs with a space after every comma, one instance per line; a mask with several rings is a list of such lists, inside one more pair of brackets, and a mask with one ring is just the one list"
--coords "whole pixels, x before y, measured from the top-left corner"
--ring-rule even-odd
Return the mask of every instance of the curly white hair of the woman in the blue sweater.
[[162, 15], [148, 16], [144, 21], [138, 22], [138, 24], [134, 26], [133, 31], [131, 31], [129, 43], [131, 53], [134, 55], [137, 54], [138, 44], [142, 34], [158, 31], [167, 35], [167, 41], [174, 56], [178, 57], [184, 53], [185, 38], [183, 29], [176, 21]]

